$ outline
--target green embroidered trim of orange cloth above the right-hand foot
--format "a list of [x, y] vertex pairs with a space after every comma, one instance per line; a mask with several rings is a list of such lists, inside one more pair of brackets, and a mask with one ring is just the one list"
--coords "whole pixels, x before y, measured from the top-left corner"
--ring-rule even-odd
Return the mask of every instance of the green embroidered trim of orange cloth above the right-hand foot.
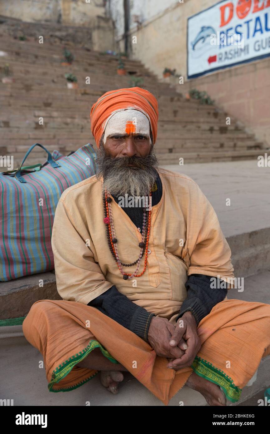
[[206, 380], [220, 386], [224, 391], [226, 398], [231, 402], [238, 401], [242, 390], [234, 385], [231, 377], [226, 375], [225, 372], [221, 371], [221, 369], [215, 368], [215, 366], [210, 362], [207, 362], [207, 360], [198, 356], [195, 357], [191, 367], [200, 377], [206, 378]]

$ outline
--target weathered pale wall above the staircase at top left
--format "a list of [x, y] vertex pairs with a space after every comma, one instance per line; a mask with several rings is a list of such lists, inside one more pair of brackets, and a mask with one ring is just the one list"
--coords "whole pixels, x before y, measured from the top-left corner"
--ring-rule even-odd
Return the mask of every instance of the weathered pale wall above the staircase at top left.
[[[100, 6], [99, 6], [100, 5]], [[0, 0], [0, 15], [27, 22], [50, 21], [72, 26], [91, 26], [105, 16], [103, 0]]]

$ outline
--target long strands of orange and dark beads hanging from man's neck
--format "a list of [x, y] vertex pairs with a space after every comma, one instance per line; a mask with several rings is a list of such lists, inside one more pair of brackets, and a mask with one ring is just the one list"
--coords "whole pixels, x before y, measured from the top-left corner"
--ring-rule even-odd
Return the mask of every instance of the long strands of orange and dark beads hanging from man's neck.
[[[156, 185], [155, 185], [155, 188], [156, 188]], [[153, 191], [155, 191], [155, 190], [153, 190]], [[150, 192], [149, 196], [150, 197], [152, 196], [152, 191]], [[114, 220], [113, 220], [113, 214], [112, 214], [112, 210], [111, 210], [111, 200], [112, 200], [111, 197], [105, 191], [105, 194], [103, 196], [103, 205], [104, 205], [105, 217], [104, 217], [103, 221], [106, 225], [107, 240], [108, 240], [109, 248], [111, 250], [111, 254], [114, 257], [114, 260], [117, 262], [117, 266], [119, 268], [120, 273], [123, 275], [124, 280], [132, 279], [133, 277], [140, 277], [140, 276], [142, 276], [142, 274], [146, 270], [149, 231], [150, 231], [150, 222], [151, 222], [151, 210], [146, 210], [145, 207], [143, 209], [143, 227], [142, 227], [142, 231], [141, 231], [142, 240], [139, 243], [139, 247], [140, 247], [139, 257], [133, 263], [124, 264], [119, 259], [118, 247], [117, 247], [117, 238], [115, 237]], [[150, 201], [151, 201], [151, 199], [150, 199]], [[141, 260], [143, 258], [144, 253], [145, 253], [145, 258], [144, 258], [143, 271], [140, 274], [136, 274], [137, 271], [139, 270], [140, 263], [141, 263]], [[137, 267], [133, 273], [125, 273], [124, 272], [123, 266], [130, 267], [130, 266], [135, 265], [136, 263], [137, 263]]]

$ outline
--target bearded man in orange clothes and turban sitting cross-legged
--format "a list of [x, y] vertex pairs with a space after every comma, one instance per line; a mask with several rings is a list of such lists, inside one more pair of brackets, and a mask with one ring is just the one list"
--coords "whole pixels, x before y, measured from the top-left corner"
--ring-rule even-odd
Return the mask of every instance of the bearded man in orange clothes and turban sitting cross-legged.
[[129, 371], [164, 404], [187, 385], [222, 406], [270, 354], [270, 305], [226, 299], [231, 250], [198, 185], [157, 166], [157, 121], [140, 88], [92, 106], [97, 173], [64, 191], [52, 230], [63, 300], [34, 303], [23, 332], [51, 391], [100, 371], [115, 394]]

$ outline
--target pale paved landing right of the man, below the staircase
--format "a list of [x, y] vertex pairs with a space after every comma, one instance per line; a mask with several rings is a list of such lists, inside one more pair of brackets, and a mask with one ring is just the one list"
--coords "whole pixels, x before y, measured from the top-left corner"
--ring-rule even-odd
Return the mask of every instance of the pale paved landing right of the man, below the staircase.
[[[270, 167], [257, 160], [163, 165], [190, 176], [215, 208], [225, 237], [270, 226]], [[226, 206], [226, 199], [231, 206]]]

